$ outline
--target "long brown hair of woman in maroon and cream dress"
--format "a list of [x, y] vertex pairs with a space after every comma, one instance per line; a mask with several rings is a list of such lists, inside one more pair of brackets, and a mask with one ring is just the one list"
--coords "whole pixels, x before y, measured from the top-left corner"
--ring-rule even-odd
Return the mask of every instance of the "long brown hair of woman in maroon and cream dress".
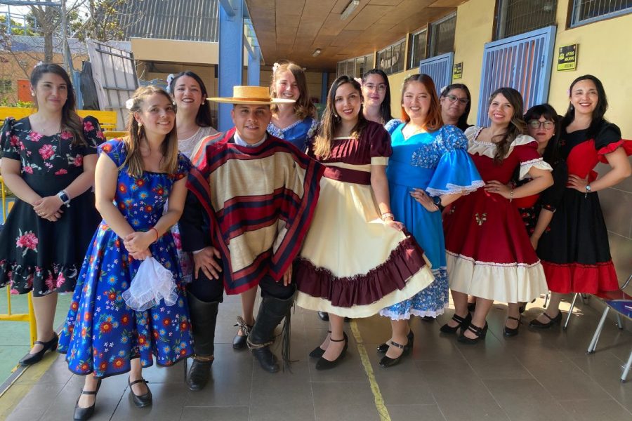
[[[331, 154], [331, 139], [334, 138], [336, 128], [340, 126], [341, 118], [336, 114], [336, 91], [345, 83], [350, 83], [351, 86], [357, 91], [360, 98], [362, 98], [362, 87], [360, 83], [357, 83], [355, 79], [343, 74], [331, 83], [329, 93], [327, 94], [327, 107], [325, 107], [322, 119], [320, 121], [320, 127], [318, 128], [318, 134], [314, 140], [314, 154], [322, 159], [329, 158]], [[364, 129], [369, 122], [364, 118], [362, 113], [362, 105], [360, 105], [360, 112], [357, 114], [357, 123], [351, 129], [351, 134], [360, 138], [362, 129]]]

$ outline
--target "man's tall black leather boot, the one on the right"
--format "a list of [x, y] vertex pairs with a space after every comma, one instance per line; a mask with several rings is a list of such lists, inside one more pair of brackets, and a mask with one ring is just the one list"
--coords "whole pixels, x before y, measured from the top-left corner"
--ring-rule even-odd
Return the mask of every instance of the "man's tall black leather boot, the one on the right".
[[294, 295], [287, 300], [263, 297], [255, 324], [248, 335], [248, 347], [261, 364], [261, 368], [268, 373], [279, 371], [277, 357], [270, 351], [270, 345], [275, 342], [275, 328], [286, 315], [289, 316], [292, 304], [294, 304]]

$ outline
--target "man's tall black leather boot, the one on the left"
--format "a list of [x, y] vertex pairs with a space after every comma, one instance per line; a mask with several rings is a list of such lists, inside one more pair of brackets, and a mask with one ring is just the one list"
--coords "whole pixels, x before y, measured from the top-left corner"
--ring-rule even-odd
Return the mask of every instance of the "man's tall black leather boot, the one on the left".
[[193, 363], [187, 375], [187, 387], [192, 392], [204, 389], [211, 377], [211, 364], [215, 352], [215, 323], [219, 302], [204, 302], [187, 293], [191, 330], [193, 334]]

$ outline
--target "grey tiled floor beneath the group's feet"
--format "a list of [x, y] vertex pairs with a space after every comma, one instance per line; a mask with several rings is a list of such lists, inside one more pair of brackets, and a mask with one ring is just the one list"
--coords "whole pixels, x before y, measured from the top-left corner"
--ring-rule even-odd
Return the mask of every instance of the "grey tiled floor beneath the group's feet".
[[[539, 306], [541, 301], [529, 305], [525, 319], [538, 314]], [[210, 387], [189, 392], [182, 364], [152, 367], [145, 370], [145, 377], [154, 404], [138, 409], [129, 398], [126, 376], [108, 378], [93, 419], [632, 420], [632, 381], [619, 381], [632, 335], [607, 322], [598, 351], [586, 355], [599, 319], [590, 307], [580, 305], [566, 332], [529, 330], [523, 323], [518, 337], [503, 338], [505, 307], [495, 305], [488, 317], [487, 339], [475, 346], [460, 345], [454, 336], [439, 333], [452, 309], [432, 323], [414, 319], [414, 353], [389, 369], [378, 366], [375, 352], [376, 345], [389, 337], [388, 320], [357, 320], [360, 349], [367, 350], [378, 391], [371, 390], [351, 326], [348, 356], [341, 366], [317, 372], [307, 354], [320, 343], [327, 325], [314, 313], [297, 309], [292, 318], [292, 356], [298, 361], [291, 373], [272, 375], [248, 352], [232, 350], [232, 325], [239, 309], [234, 297], [220, 306]], [[72, 375], [63, 357], [56, 356], [39, 381], [28, 384], [20, 379], [13, 386], [30, 390], [7, 419], [71, 420], [81, 385], [82, 378]], [[385, 404], [382, 417], [376, 394]]]

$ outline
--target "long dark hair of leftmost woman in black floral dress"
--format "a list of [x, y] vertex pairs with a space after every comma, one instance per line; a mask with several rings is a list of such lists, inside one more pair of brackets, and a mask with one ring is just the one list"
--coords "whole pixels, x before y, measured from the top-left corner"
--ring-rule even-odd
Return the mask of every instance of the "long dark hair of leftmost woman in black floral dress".
[[[76, 100], [74, 98], [74, 88], [72, 88], [72, 82], [70, 81], [70, 77], [66, 73], [66, 71], [60, 65], [55, 65], [53, 63], [44, 63], [41, 65], [37, 65], [33, 72], [31, 73], [31, 77], [29, 82], [33, 87], [33, 91], [37, 87], [37, 82], [41, 79], [41, 76], [44, 76], [46, 73], [53, 73], [60, 78], [64, 79], [64, 83], [66, 83], [66, 93], [67, 98], [66, 102], [62, 107], [62, 119], [61, 119], [61, 130], [70, 132], [72, 135], [72, 145], [74, 146], [86, 146], [88, 143], [84, 139], [84, 124], [81, 123], [81, 118], [75, 112]], [[37, 97], [36, 97], [36, 105], [37, 105]]]

